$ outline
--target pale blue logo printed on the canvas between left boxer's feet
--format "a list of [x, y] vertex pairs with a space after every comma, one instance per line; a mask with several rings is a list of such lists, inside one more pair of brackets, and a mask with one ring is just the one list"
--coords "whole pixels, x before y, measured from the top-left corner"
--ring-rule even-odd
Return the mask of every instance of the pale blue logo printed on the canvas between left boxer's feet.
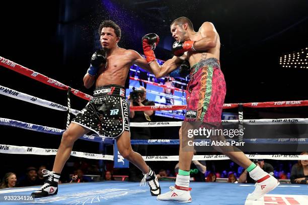
[[99, 203], [104, 200], [127, 196], [144, 192], [145, 190], [131, 190], [124, 188], [109, 188], [100, 190], [91, 190], [78, 193], [70, 193], [64, 195], [56, 195], [53, 197], [35, 199], [38, 203], [60, 202], [61, 204], [90, 204]]

